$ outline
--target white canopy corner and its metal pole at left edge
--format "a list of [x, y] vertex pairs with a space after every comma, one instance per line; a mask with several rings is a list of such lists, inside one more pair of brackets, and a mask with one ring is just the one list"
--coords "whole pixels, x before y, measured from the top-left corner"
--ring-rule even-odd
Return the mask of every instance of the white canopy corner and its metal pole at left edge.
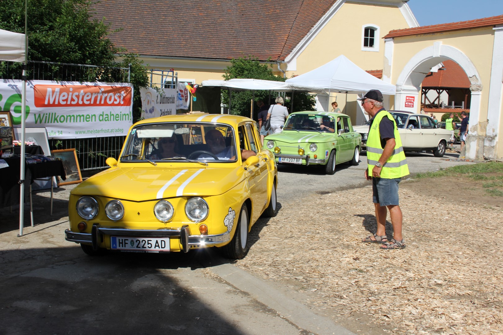
[[[0, 60], [20, 62], [26, 65], [26, 55], [28, 53], [28, 40], [26, 34], [13, 33], [0, 29]], [[25, 76], [23, 70], [23, 76]], [[23, 88], [21, 91], [21, 168], [20, 181], [24, 181], [25, 176], [25, 130], [26, 130], [26, 79], [23, 79]], [[23, 222], [25, 209], [25, 187], [24, 182], [20, 183], [19, 196], [19, 236], [23, 236]], [[32, 221], [33, 222], [33, 221]]]

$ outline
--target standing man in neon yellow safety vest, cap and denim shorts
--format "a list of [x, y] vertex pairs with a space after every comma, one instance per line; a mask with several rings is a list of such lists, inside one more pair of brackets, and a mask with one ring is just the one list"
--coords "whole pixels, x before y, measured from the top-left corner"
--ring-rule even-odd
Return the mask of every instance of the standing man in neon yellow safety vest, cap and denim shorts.
[[[363, 239], [366, 243], [381, 243], [381, 249], [403, 249], [402, 211], [398, 203], [398, 183], [409, 174], [407, 161], [396, 123], [383, 108], [383, 96], [372, 89], [362, 98], [363, 109], [369, 114], [369, 136], [367, 139], [367, 170], [365, 179], [372, 180], [372, 195], [377, 220], [377, 231]], [[393, 238], [386, 236], [387, 210], [391, 216]]]

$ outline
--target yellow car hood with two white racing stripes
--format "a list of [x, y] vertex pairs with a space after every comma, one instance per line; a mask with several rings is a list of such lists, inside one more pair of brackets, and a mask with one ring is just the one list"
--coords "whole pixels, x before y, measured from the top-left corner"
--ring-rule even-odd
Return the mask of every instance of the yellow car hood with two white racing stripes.
[[90, 177], [71, 194], [146, 201], [183, 195], [218, 195], [237, 185], [244, 169], [212, 167], [114, 167]]

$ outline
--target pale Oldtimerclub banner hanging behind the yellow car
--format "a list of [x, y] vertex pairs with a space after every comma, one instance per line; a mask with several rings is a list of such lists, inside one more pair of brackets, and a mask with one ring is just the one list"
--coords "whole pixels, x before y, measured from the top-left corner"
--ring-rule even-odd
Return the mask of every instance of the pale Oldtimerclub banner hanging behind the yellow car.
[[141, 117], [150, 119], [164, 115], [177, 114], [177, 90], [175, 88], [163, 88], [158, 93], [150, 87], [140, 87]]

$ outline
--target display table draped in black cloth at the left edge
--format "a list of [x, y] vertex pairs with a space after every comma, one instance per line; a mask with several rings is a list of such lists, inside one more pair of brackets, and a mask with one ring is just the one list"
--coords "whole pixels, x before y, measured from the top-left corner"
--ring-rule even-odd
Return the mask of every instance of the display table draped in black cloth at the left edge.
[[[20, 173], [21, 158], [6, 158], [4, 159], [8, 167], [0, 169], [0, 206], [12, 206], [19, 203], [20, 186], [18, 181]], [[62, 161], [50, 161], [37, 164], [25, 165], [25, 200], [26, 196], [30, 196], [30, 212], [31, 222], [33, 226], [33, 201], [31, 195], [31, 184], [34, 180], [59, 176], [61, 179], [66, 179], [66, 174], [63, 168]], [[53, 198], [53, 183], [51, 182], [51, 215], [52, 215], [52, 198]]]

